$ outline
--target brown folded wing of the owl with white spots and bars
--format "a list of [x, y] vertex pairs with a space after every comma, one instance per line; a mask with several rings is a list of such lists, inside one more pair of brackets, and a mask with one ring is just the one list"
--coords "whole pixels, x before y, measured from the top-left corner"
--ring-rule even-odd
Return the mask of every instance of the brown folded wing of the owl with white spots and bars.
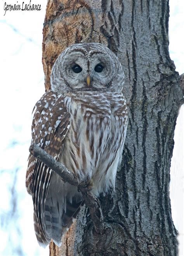
[[[70, 115], [64, 106], [64, 97], [50, 90], [36, 103], [33, 111], [31, 143], [40, 146], [58, 160], [63, 148], [63, 139], [70, 126]], [[52, 169], [30, 154], [26, 172], [26, 188], [33, 197], [35, 232], [41, 243], [47, 240], [43, 231], [42, 219], [53, 173]]]

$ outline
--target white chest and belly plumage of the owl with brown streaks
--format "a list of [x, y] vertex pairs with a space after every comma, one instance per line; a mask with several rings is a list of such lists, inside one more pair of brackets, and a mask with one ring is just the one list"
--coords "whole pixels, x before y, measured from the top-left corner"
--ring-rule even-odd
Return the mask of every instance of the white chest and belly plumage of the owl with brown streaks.
[[70, 129], [60, 162], [79, 180], [93, 179], [95, 195], [115, 187], [127, 128], [122, 93], [77, 92], [66, 95]]

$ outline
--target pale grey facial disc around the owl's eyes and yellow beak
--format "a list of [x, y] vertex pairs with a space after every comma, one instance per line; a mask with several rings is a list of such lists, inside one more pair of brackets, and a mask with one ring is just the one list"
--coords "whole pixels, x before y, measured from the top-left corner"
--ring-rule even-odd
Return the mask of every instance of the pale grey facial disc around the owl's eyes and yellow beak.
[[105, 53], [70, 52], [64, 58], [62, 70], [67, 84], [82, 91], [104, 89], [115, 76], [115, 64]]

